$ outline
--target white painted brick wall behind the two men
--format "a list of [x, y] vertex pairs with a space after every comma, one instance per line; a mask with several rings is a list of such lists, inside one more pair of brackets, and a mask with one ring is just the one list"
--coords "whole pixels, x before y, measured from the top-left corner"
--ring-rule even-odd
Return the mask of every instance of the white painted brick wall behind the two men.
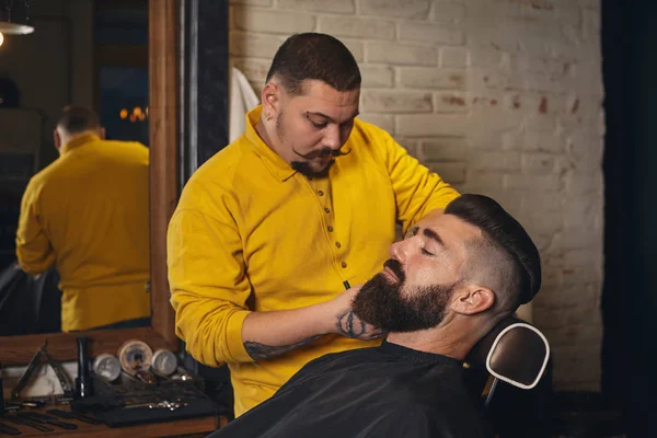
[[231, 0], [230, 23], [231, 62], [258, 93], [287, 35], [339, 37], [361, 67], [361, 118], [526, 224], [555, 387], [599, 389], [599, 0]]

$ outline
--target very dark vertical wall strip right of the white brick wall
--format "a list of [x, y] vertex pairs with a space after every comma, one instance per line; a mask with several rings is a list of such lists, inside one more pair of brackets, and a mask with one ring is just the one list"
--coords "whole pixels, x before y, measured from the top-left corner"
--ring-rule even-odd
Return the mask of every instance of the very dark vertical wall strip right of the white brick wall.
[[632, 436], [657, 436], [657, 2], [602, 0], [602, 388]]

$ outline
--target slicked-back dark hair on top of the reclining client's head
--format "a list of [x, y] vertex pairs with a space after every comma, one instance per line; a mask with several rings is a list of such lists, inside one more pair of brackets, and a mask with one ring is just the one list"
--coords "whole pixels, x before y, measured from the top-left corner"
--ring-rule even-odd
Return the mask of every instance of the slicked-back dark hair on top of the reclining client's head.
[[452, 200], [445, 214], [479, 228], [488, 242], [510, 257], [515, 265], [511, 272], [519, 275], [517, 281], [512, 281], [517, 285], [511, 291], [516, 295], [516, 304], [531, 301], [541, 288], [541, 257], [520, 222], [492, 198], [475, 194], [464, 194]]

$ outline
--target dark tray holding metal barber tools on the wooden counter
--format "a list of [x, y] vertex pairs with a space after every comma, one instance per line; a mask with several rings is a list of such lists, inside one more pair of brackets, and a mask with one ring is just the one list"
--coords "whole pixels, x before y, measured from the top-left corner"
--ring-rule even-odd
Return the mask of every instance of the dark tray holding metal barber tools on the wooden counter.
[[198, 380], [161, 380], [149, 384], [132, 379], [118, 383], [94, 379], [93, 396], [78, 400], [71, 411], [92, 413], [110, 427], [170, 422], [217, 415], [215, 403]]

